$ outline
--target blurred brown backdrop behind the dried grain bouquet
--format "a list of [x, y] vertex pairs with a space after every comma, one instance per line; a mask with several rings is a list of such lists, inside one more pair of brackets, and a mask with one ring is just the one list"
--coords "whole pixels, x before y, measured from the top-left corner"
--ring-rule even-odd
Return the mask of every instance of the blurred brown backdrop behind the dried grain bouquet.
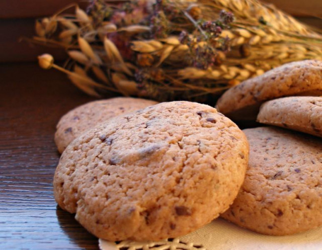
[[[70, 3], [82, 0], [5, 0], [0, 1], [0, 62], [32, 61], [38, 54], [49, 52], [63, 58], [64, 51], [19, 42], [34, 35], [36, 18], [50, 16]], [[267, 0], [282, 10], [297, 16], [301, 21], [322, 27], [322, 0]]]

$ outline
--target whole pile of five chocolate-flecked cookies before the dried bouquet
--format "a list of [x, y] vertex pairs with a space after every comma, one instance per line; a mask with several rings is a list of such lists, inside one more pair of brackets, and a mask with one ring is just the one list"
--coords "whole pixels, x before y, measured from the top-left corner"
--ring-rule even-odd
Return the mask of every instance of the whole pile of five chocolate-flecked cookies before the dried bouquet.
[[[217, 103], [223, 114], [187, 101], [85, 104], [57, 125], [55, 199], [111, 241], [173, 238], [220, 214], [273, 235], [321, 226], [322, 100], [312, 96], [321, 93], [322, 62], [302, 61], [227, 91]], [[303, 94], [310, 96], [294, 97]], [[225, 115], [258, 115], [313, 136], [276, 127], [241, 131]]]

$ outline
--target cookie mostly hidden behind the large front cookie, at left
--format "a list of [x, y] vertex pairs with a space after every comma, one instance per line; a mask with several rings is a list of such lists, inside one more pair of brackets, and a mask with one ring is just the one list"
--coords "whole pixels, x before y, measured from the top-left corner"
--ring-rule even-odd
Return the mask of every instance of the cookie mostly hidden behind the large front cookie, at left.
[[107, 119], [156, 103], [139, 98], [116, 97], [76, 107], [62, 116], [56, 126], [55, 143], [57, 149], [59, 153], [62, 153], [75, 138]]

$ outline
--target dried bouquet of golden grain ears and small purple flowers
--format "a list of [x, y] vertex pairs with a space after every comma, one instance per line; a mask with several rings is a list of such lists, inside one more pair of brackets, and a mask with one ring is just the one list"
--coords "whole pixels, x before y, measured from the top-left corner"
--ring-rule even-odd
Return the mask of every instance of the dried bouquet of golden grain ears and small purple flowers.
[[[63, 14], [74, 8], [73, 15]], [[61, 46], [84, 92], [205, 101], [294, 60], [320, 59], [322, 35], [257, 0], [93, 0], [37, 20], [35, 42]]]

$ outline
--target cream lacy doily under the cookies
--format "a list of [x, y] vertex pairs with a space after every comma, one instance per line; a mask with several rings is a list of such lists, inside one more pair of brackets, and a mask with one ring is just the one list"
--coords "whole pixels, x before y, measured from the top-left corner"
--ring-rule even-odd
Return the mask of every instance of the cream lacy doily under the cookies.
[[101, 250], [322, 250], [322, 227], [289, 236], [270, 236], [240, 228], [223, 219], [180, 238], [119, 243], [99, 239]]

